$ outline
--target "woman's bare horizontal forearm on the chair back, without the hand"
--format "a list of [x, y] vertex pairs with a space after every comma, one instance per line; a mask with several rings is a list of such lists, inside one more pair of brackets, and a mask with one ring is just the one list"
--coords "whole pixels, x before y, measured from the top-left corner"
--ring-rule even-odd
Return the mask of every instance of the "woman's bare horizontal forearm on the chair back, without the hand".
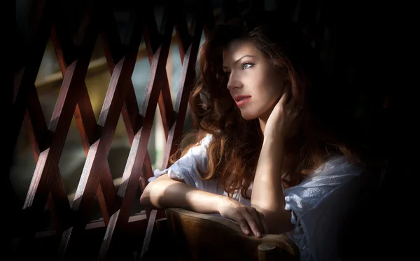
[[140, 202], [156, 209], [179, 207], [199, 213], [218, 213], [217, 206], [222, 197], [166, 176], [149, 183], [141, 194]]

